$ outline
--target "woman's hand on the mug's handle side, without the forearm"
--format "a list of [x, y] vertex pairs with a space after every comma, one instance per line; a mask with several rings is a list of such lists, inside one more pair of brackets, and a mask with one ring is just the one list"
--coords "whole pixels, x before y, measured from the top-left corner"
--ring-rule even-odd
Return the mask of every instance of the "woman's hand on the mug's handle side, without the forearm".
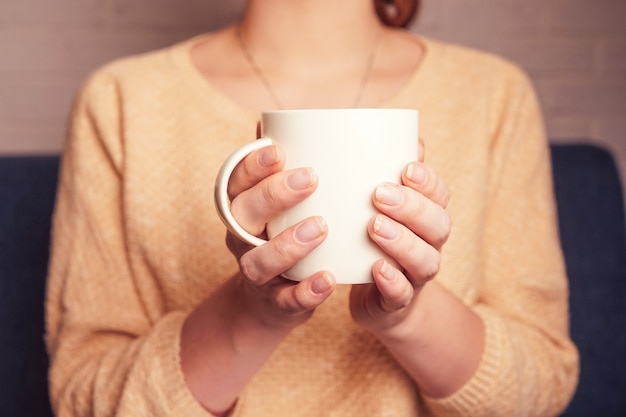
[[[238, 223], [254, 235], [264, 235], [265, 224], [271, 218], [317, 188], [312, 169], [283, 171], [284, 160], [281, 148], [268, 146], [248, 155], [231, 175], [231, 211]], [[243, 295], [267, 325], [300, 324], [332, 293], [335, 280], [327, 271], [302, 282], [280, 276], [322, 243], [327, 233], [321, 217], [305, 219], [258, 247], [228, 233], [228, 248], [239, 261]]]

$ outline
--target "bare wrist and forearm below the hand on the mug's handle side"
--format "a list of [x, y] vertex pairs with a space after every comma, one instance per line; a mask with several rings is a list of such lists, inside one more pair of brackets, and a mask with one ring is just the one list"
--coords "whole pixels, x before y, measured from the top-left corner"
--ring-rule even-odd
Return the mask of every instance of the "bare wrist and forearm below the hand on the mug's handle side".
[[238, 278], [226, 282], [193, 310], [180, 342], [181, 369], [207, 410], [225, 412], [261, 368], [288, 329], [267, 326], [241, 293]]

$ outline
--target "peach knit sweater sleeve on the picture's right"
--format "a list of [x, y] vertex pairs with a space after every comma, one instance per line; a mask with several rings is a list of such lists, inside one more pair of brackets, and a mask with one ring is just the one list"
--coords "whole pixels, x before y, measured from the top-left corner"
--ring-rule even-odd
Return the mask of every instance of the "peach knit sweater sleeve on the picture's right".
[[472, 306], [485, 350], [458, 392], [425, 399], [438, 416], [558, 415], [578, 378], [543, 120], [526, 75], [506, 75], [491, 102], [484, 275]]

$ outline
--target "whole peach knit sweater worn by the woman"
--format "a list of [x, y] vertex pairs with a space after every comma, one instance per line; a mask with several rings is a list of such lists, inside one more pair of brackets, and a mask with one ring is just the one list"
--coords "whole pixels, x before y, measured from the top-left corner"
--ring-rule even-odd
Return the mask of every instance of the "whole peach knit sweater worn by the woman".
[[[46, 301], [59, 416], [209, 415], [185, 385], [179, 336], [236, 273], [213, 181], [259, 115], [202, 77], [194, 41], [107, 65], [78, 94]], [[351, 321], [339, 286], [246, 386], [236, 416], [536, 417], [572, 395], [578, 356], [532, 87], [500, 58], [421, 41], [422, 65], [384, 106], [420, 110], [426, 161], [450, 187], [435, 279], [484, 320], [480, 367], [448, 398], [421, 395]]]

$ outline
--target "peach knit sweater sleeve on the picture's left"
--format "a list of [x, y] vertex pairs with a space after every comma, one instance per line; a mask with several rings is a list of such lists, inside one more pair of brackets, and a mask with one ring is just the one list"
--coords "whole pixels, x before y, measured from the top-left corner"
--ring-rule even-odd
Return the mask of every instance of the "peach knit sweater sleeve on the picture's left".
[[129, 265], [121, 100], [101, 70], [70, 123], [46, 299], [53, 408], [63, 416], [207, 416], [179, 366], [182, 311], [154, 312]]

